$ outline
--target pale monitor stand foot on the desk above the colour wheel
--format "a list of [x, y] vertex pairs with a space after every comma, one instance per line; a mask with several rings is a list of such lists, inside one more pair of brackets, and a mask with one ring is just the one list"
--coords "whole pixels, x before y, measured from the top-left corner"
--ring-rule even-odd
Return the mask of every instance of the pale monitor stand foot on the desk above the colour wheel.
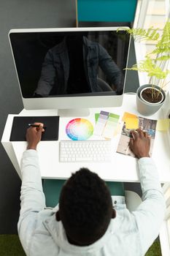
[[89, 116], [90, 109], [89, 108], [69, 108], [69, 109], [59, 109], [58, 116], [62, 117], [82, 117], [82, 116]]

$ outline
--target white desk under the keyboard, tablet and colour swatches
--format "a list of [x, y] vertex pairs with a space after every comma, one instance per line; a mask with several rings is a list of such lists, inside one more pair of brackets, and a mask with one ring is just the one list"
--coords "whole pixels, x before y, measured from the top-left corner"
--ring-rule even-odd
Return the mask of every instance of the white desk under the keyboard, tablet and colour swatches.
[[[155, 115], [148, 118], [166, 118], [169, 113], [169, 95], [168, 99]], [[90, 109], [90, 116], [86, 116], [93, 124], [95, 124], [94, 113], [99, 113], [101, 110], [106, 110], [112, 113], [117, 113], [120, 116], [125, 111], [140, 115], [136, 110], [136, 95], [125, 94], [123, 99], [123, 105], [120, 108], [94, 108]], [[23, 110], [19, 114], [20, 116], [46, 116], [57, 115], [57, 110]], [[20, 176], [20, 160], [22, 158], [23, 151], [26, 150], [26, 142], [10, 142], [10, 132], [12, 128], [12, 120], [14, 116], [9, 115], [7, 123], [4, 128], [4, 134], [1, 139], [1, 143], [4, 146], [15, 170]], [[80, 117], [74, 116], [73, 118]], [[59, 140], [67, 140], [65, 127], [66, 124], [72, 119], [60, 118], [59, 126]], [[114, 151], [117, 148], [117, 143], [120, 135], [117, 135], [113, 140]], [[75, 170], [79, 170], [80, 167], [88, 167], [93, 172], [98, 173], [101, 178], [106, 181], [139, 181], [137, 171], [137, 160], [133, 157], [128, 157], [123, 154], [114, 153], [112, 162], [109, 163], [60, 163], [58, 162], [58, 141], [41, 141], [37, 147], [39, 152], [39, 165], [42, 174], [42, 178], [69, 178], [71, 173]], [[152, 158], [154, 159], [158, 171], [160, 174], [160, 180], [162, 183], [170, 181], [170, 141], [169, 132], [156, 132], [155, 143], [152, 152]]]

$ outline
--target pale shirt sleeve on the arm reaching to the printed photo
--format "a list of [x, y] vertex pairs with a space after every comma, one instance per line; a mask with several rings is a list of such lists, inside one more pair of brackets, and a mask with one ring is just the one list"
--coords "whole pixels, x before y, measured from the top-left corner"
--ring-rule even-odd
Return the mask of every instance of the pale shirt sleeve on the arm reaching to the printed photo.
[[166, 204], [158, 171], [151, 158], [139, 159], [139, 179], [143, 202], [132, 214], [136, 219], [144, 254], [159, 234]]

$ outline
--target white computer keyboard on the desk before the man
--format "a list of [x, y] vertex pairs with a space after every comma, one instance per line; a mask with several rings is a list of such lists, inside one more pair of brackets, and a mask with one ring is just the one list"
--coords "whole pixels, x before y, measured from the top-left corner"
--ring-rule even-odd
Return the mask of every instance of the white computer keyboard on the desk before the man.
[[61, 140], [60, 162], [109, 162], [110, 140]]

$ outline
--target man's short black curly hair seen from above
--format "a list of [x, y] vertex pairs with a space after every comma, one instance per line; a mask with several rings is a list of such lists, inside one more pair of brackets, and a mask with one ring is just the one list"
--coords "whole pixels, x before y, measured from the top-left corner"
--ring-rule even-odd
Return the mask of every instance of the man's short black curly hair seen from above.
[[70, 240], [93, 244], [107, 230], [112, 218], [112, 198], [105, 182], [96, 173], [81, 168], [61, 190], [61, 222]]

